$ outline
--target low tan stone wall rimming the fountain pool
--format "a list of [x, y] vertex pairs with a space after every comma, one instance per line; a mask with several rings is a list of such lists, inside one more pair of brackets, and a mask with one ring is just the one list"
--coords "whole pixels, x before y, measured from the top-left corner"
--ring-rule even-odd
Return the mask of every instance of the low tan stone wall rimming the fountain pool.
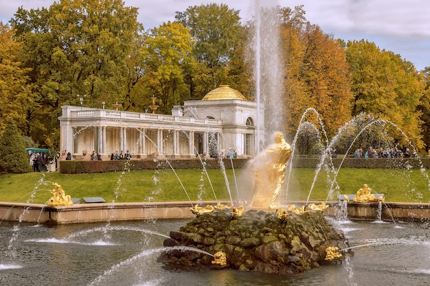
[[[192, 202], [200, 206], [215, 205], [217, 202]], [[320, 202], [308, 202], [319, 204]], [[305, 202], [290, 202], [302, 206]], [[339, 202], [328, 202], [330, 207], [324, 215], [335, 216]], [[73, 206], [46, 206], [45, 204], [24, 204], [0, 202], [0, 218], [10, 222], [38, 224], [77, 224], [141, 219], [170, 219], [194, 217], [190, 202], [139, 202], [139, 203], [97, 203], [73, 204]], [[274, 210], [273, 210], [274, 211]], [[348, 203], [348, 218], [374, 220], [378, 203]], [[385, 202], [381, 219], [385, 221], [430, 221], [430, 204]]]

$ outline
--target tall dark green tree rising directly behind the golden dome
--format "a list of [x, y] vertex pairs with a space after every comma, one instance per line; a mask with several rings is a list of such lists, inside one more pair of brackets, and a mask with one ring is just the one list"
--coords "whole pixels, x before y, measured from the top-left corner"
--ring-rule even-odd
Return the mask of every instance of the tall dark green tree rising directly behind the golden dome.
[[185, 12], [177, 12], [175, 19], [196, 39], [193, 55], [198, 64], [194, 76], [188, 78], [192, 80], [190, 97], [201, 99], [227, 82], [232, 53], [242, 43], [239, 11], [210, 3], [190, 6]]

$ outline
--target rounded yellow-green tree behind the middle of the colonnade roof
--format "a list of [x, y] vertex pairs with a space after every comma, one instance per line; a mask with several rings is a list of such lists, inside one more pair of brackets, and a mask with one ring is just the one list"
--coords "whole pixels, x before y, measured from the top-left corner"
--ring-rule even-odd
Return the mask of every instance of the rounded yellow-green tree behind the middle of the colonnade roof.
[[193, 45], [189, 29], [181, 23], [169, 21], [151, 29], [142, 51], [147, 67], [142, 80], [150, 86], [150, 95], [159, 99], [161, 112], [169, 112], [172, 106], [189, 99], [184, 75], [193, 65]]

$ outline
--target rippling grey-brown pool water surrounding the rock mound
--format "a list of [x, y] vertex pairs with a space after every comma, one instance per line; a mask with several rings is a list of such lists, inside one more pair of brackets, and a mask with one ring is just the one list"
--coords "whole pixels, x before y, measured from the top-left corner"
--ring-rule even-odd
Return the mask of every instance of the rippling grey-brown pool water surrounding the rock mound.
[[163, 240], [190, 219], [55, 227], [0, 224], [0, 285], [427, 285], [428, 223], [335, 222], [354, 256], [293, 276], [170, 270]]

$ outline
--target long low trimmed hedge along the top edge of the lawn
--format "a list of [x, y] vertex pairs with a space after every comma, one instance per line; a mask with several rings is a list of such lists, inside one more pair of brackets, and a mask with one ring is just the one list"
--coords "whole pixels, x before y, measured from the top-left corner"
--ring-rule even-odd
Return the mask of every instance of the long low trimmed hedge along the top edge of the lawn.
[[[234, 168], [247, 167], [248, 159], [234, 159]], [[203, 160], [207, 169], [220, 169], [218, 159]], [[229, 159], [223, 160], [226, 169], [231, 169]], [[319, 158], [293, 158], [295, 168], [315, 168], [319, 165]], [[328, 160], [326, 160], [328, 163]], [[332, 158], [335, 168], [342, 163], [342, 158]], [[123, 170], [144, 169], [202, 169], [199, 159], [168, 159], [168, 160], [62, 160], [60, 161], [60, 172], [64, 174], [103, 173]], [[365, 169], [430, 169], [430, 158], [345, 158], [343, 168], [365, 168]]]

